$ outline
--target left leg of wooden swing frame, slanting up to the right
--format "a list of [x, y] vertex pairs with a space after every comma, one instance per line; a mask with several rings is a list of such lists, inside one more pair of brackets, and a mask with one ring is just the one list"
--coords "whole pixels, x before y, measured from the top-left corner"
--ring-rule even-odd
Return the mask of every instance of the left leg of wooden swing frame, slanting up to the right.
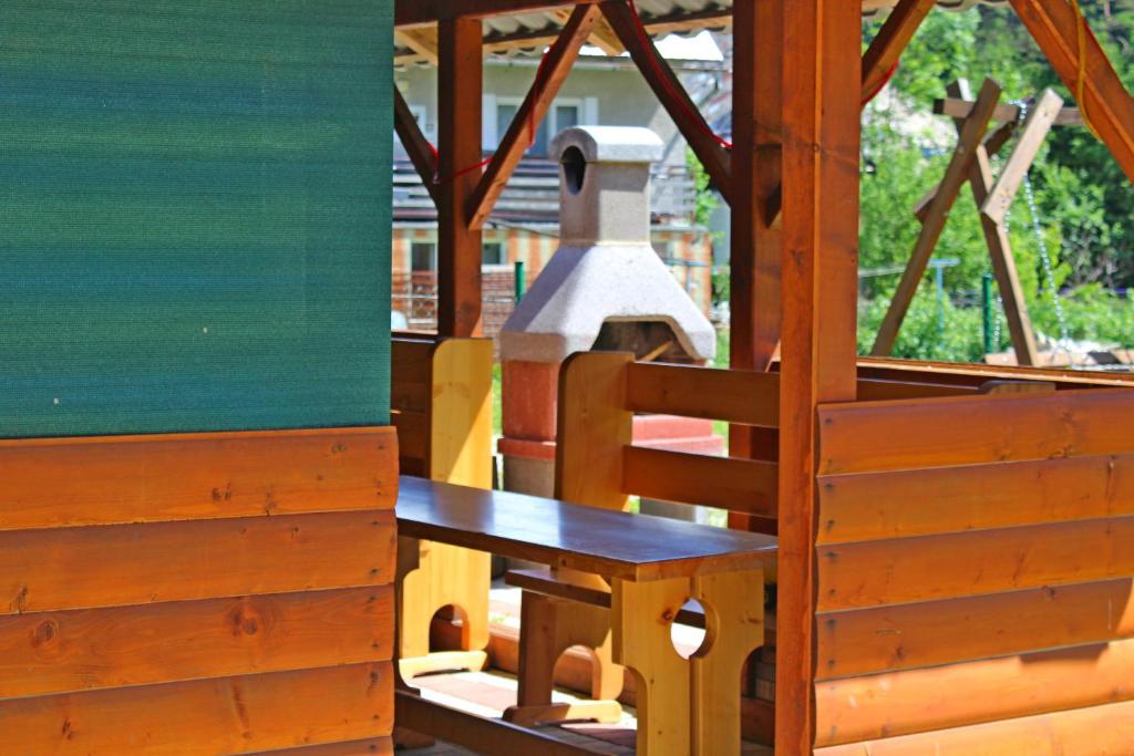
[[909, 255], [909, 264], [906, 265], [906, 270], [902, 274], [898, 288], [890, 300], [890, 307], [886, 311], [886, 317], [882, 318], [882, 324], [878, 329], [878, 337], [870, 350], [870, 354], [874, 356], [888, 355], [894, 349], [902, 321], [905, 320], [909, 304], [913, 301], [914, 295], [917, 294], [917, 287], [925, 274], [925, 267], [933, 255], [933, 248], [937, 247], [941, 231], [945, 230], [949, 210], [956, 202], [962, 185], [968, 178], [972, 167], [976, 162], [981, 139], [988, 129], [992, 110], [999, 99], [1000, 85], [992, 79], [984, 79], [980, 96], [976, 99], [976, 107], [973, 108], [973, 114], [965, 121], [958, 138], [957, 151], [945, 171], [945, 178], [941, 179], [938, 193], [925, 215], [925, 222], [922, 224], [921, 233], [917, 236], [913, 253]]

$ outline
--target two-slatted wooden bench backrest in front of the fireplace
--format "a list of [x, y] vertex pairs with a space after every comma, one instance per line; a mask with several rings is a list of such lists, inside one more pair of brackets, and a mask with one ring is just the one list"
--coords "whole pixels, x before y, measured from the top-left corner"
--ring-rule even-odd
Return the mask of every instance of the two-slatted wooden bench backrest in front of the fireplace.
[[641, 495], [776, 516], [777, 464], [633, 444], [634, 413], [775, 428], [779, 379], [770, 373], [635, 363], [579, 352], [559, 376], [556, 496], [625, 509]]

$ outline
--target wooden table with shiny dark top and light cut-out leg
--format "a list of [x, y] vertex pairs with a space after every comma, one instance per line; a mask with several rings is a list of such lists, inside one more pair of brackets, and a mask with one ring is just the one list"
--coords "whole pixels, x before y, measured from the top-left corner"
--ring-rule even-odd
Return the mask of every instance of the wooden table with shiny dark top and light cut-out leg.
[[[612, 655], [641, 686], [637, 753], [739, 753], [736, 683], [763, 643], [763, 574], [775, 538], [413, 477], [400, 481], [397, 517], [404, 536], [609, 580]], [[711, 640], [685, 660], [670, 627], [689, 597], [706, 608]], [[531, 750], [517, 751], [517, 733], [526, 731], [502, 725], [499, 740], [485, 738], [458, 724], [467, 715], [408, 691], [399, 694], [397, 716], [414, 729], [435, 722], [430, 733], [447, 739], [465, 733], [457, 744], [477, 753], [543, 748], [533, 734]]]

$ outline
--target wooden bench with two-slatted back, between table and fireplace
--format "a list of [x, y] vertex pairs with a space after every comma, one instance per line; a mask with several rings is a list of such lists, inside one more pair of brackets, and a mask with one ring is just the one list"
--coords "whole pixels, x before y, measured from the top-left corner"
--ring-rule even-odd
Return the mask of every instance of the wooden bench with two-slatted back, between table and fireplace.
[[[632, 495], [641, 495], [775, 518], [776, 462], [635, 447], [632, 425], [634, 413], [640, 411], [775, 428], [778, 384], [778, 376], [767, 373], [635, 363], [627, 354], [574, 355], [560, 373], [556, 495], [619, 511], [628, 508]], [[773, 580], [775, 564], [768, 572]], [[516, 570], [508, 581], [524, 588], [524, 594], [519, 696], [507, 719], [526, 724], [561, 713], [586, 713], [600, 721], [616, 714], [610, 704], [619, 695], [624, 673], [611, 653], [611, 596], [606, 580], [556, 566]], [[737, 596], [763, 610], [763, 585], [745, 586]], [[703, 612], [689, 609], [678, 619], [712, 625]], [[590, 710], [581, 705], [561, 712], [550, 705], [552, 679], [557, 660], [572, 646], [593, 652], [591, 696], [595, 703]], [[729, 697], [730, 707], [741, 705], [739, 681], [737, 676], [721, 693]]]

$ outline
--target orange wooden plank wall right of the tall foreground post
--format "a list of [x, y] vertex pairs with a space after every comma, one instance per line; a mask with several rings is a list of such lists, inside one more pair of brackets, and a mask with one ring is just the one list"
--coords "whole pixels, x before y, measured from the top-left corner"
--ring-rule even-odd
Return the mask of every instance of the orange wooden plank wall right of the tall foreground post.
[[1134, 753], [1134, 391], [819, 428], [815, 753]]

